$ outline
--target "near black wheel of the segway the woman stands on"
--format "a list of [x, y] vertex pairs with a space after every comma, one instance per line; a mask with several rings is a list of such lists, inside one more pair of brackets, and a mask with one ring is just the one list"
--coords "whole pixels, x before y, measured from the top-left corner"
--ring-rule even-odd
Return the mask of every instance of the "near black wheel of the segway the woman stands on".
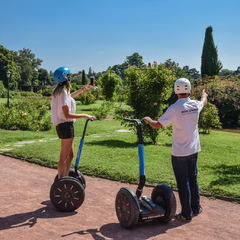
[[50, 199], [55, 208], [62, 212], [73, 212], [85, 198], [82, 184], [73, 177], [63, 177], [53, 183]]

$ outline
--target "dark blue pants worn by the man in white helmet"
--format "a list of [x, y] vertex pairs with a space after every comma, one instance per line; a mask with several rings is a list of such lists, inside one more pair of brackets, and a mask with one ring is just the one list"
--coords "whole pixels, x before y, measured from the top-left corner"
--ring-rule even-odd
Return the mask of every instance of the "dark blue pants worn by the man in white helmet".
[[186, 157], [172, 156], [172, 166], [177, 181], [178, 194], [182, 205], [182, 215], [192, 218], [192, 212], [200, 208], [197, 182], [198, 153]]

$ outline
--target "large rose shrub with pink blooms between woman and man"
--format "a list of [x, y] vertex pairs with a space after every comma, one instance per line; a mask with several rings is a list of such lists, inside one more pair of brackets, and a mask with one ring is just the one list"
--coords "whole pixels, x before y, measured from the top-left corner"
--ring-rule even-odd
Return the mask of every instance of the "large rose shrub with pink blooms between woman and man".
[[[128, 112], [127, 116], [138, 119], [149, 116], [157, 120], [157, 117], [161, 116], [163, 110], [168, 107], [164, 101], [171, 96], [173, 82], [176, 80], [174, 72], [174, 69], [167, 68], [163, 64], [158, 65], [156, 62], [143, 69], [129, 66], [125, 70], [126, 103], [131, 106], [132, 111]], [[116, 114], [117, 118], [123, 117], [121, 115], [124, 114], [124, 111], [121, 113], [121, 110], [118, 110], [118, 113], [120, 115]], [[122, 124], [133, 126], [131, 122], [122, 121]], [[156, 143], [160, 131], [153, 129], [148, 124], [143, 124], [144, 138], [149, 137], [153, 143]]]

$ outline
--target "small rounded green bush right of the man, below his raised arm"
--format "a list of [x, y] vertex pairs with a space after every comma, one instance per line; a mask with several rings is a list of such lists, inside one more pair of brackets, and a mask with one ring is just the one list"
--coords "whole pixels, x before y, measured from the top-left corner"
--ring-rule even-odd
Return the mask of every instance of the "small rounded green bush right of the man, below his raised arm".
[[198, 128], [208, 134], [212, 128], [222, 128], [220, 118], [218, 116], [218, 109], [215, 105], [208, 102], [203, 108], [199, 115]]

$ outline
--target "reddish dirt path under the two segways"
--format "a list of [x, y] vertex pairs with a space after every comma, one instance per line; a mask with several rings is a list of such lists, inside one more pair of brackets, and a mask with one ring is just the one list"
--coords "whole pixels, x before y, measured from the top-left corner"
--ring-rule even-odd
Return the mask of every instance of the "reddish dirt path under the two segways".
[[[126, 230], [115, 213], [115, 196], [126, 184], [85, 176], [86, 197], [73, 213], [58, 212], [49, 200], [55, 169], [0, 155], [0, 239], [240, 239], [240, 205], [201, 197], [203, 213], [190, 223], [139, 223]], [[135, 185], [128, 185], [134, 191]], [[151, 189], [144, 194], [151, 196]], [[180, 211], [178, 194], [177, 211]]]

